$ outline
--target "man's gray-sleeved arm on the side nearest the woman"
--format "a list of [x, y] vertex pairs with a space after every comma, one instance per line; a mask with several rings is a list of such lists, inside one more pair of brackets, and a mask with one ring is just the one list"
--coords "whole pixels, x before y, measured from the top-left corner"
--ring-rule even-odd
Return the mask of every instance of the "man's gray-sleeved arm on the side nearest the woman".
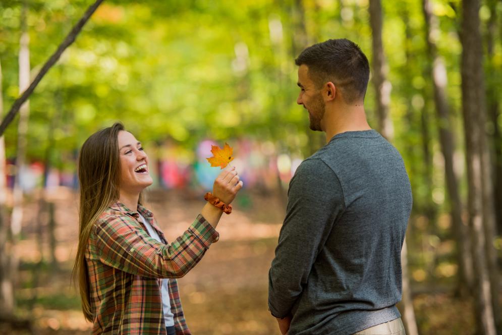
[[320, 159], [303, 161], [288, 190], [286, 218], [268, 275], [273, 316], [291, 313], [337, 217], [345, 210], [342, 187]]

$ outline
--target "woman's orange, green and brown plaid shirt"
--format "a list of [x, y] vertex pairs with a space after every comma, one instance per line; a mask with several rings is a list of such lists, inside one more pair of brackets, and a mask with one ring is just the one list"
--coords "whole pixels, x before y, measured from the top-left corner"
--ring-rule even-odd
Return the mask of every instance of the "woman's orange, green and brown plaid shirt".
[[159, 278], [169, 281], [177, 335], [190, 334], [176, 279], [202, 258], [218, 233], [200, 214], [185, 233], [167, 244], [152, 213], [138, 211], [156, 230], [151, 238], [138, 212], [117, 202], [105, 210], [91, 231], [86, 261], [94, 314], [93, 334], [165, 334]]

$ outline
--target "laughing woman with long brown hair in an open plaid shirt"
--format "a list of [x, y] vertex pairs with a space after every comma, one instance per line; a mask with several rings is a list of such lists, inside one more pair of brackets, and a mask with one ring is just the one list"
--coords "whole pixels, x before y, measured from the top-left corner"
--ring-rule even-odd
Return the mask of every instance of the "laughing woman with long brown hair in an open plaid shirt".
[[168, 244], [142, 191], [152, 184], [141, 143], [121, 123], [82, 145], [78, 161], [80, 229], [74, 275], [94, 334], [190, 334], [175, 278], [218, 240], [242, 181], [224, 170], [193, 224]]

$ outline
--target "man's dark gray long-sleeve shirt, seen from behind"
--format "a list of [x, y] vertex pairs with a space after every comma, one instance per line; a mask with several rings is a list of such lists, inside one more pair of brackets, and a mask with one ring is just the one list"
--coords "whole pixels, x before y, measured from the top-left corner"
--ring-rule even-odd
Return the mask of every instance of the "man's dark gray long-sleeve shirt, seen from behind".
[[272, 315], [290, 335], [346, 335], [400, 317], [401, 248], [412, 206], [399, 152], [346, 132], [304, 160], [269, 271]]

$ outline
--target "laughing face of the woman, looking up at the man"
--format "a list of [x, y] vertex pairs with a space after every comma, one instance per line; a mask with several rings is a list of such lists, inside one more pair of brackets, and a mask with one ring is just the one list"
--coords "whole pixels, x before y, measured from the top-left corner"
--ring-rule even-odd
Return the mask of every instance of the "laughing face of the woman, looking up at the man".
[[118, 142], [121, 170], [119, 189], [127, 193], [139, 193], [153, 183], [148, 173], [148, 156], [130, 132], [121, 130]]

